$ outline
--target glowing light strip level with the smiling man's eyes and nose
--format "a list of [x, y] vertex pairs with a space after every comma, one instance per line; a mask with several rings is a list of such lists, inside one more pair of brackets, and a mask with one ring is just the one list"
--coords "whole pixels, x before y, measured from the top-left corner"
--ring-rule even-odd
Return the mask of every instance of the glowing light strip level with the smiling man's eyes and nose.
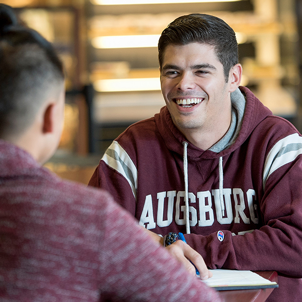
[[94, 82], [99, 92], [161, 90], [160, 78], [110, 79]]

